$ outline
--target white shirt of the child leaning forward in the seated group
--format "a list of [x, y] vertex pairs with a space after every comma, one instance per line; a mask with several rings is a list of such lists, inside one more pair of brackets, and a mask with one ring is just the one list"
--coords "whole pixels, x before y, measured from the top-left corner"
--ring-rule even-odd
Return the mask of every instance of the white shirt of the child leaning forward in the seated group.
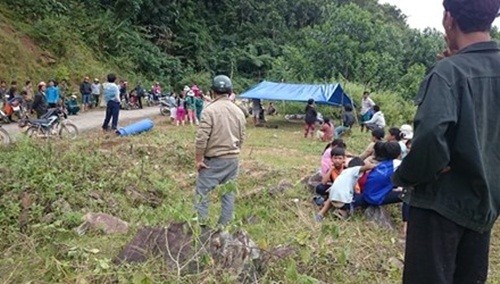
[[354, 196], [354, 187], [361, 177], [361, 166], [342, 170], [330, 187], [329, 198], [331, 201], [351, 203]]

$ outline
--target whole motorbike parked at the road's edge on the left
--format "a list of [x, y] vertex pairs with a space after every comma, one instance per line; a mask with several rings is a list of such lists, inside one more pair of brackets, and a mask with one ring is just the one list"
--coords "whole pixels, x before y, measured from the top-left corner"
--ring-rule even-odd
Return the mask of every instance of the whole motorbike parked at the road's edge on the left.
[[68, 119], [68, 114], [63, 107], [50, 108], [40, 119], [28, 117], [19, 120], [20, 128], [27, 127], [25, 134], [28, 137], [50, 138], [60, 137], [75, 139], [78, 128]]

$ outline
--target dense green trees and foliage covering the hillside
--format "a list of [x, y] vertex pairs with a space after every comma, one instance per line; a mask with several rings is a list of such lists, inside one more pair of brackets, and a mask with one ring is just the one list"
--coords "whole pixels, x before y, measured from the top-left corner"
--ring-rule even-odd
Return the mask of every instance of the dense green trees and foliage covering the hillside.
[[376, 0], [5, 0], [57, 57], [84, 44], [130, 74], [179, 86], [214, 73], [256, 81], [347, 80], [405, 98], [442, 49]]

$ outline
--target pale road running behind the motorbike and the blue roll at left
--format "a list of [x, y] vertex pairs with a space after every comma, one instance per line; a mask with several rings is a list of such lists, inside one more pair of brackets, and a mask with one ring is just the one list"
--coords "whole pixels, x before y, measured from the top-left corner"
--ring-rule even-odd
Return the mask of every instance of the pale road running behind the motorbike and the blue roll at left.
[[[69, 120], [73, 122], [80, 132], [91, 129], [100, 129], [104, 121], [106, 111], [104, 109], [92, 110], [85, 113], [80, 113], [76, 116], [69, 116]], [[141, 118], [152, 118], [160, 115], [160, 107], [145, 107], [137, 110], [120, 110], [118, 119], [118, 127], [123, 126], [124, 122], [130, 122]], [[11, 138], [15, 138], [21, 133], [16, 123], [4, 124], [2, 127], [9, 132]]]

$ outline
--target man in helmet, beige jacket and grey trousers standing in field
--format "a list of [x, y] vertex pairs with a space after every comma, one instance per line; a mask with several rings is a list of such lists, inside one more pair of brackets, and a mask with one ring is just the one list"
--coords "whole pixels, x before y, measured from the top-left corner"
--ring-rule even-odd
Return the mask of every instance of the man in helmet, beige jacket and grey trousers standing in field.
[[[195, 208], [200, 223], [208, 218], [208, 193], [218, 185], [223, 186], [222, 210], [219, 225], [227, 225], [233, 218], [238, 175], [238, 156], [245, 140], [245, 115], [228, 99], [233, 85], [224, 75], [212, 81], [215, 99], [201, 115], [196, 132], [196, 180]], [[233, 186], [231, 186], [233, 185]]]

